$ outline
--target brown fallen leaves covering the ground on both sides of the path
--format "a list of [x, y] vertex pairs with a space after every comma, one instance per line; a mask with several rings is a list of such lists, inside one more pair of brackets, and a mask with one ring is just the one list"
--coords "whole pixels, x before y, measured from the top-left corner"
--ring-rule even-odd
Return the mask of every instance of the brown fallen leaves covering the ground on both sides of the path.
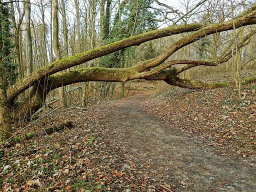
[[[0, 162], [1, 191], [190, 191], [196, 187], [188, 175], [175, 172], [182, 171], [178, 163], [166, 163], [164, 158], [169, 156], [164, 154], [165, 149], [161, 154], [165, 157], [157, 159], [155, 152], [161, 152], [162, 143], [151, 141], [152, 135], [142, 134], [148, 128], [143, 119], [139, 124], [142, 133], [134, 136], [135, 130], [127, 130], [132, 125], [125, 124], [122, 116], [118, 118], [121, 112], [131, 124], [138, 123], [137, 114], [129, 116], [133, 98], [139, 98], [135, 104], [149, 114], [147, 118], [160, 120], [164, 123], [161, 126], [175, 127], [184, 139], [196, 139], [203, 147], [213, 147], [226, 158], [245, 160], [252, 168], [249, 170], [255, 170], [256, 86], [250, 86], [244, 88], [243, 99], [237, 102], [235, 91], [230, 88], [196, 92], [179, 89], [157, 97], [150, 96], [154, 91], [147, 91], [146, 96], [140, 92], [87, 110], [52, 113], [52, 121], [56, 117], [58, 122], [68, 119], [75, 128], [43, 135], [39, 143], [29, 140], [25, 146], [16, 143], [5, 147], [2, 158], [20, 152], [24, 155]], [[156, 138], [166, 131], [156, 129]], [[139, 140], [141, 137], [152, 145], [151, 151], [146, 148], [147, 142]], [[217, 187], [230, 187], [232, 191], [230, 179], [214, 182]], [[226, 185], [228, 182], [230, 186]]]

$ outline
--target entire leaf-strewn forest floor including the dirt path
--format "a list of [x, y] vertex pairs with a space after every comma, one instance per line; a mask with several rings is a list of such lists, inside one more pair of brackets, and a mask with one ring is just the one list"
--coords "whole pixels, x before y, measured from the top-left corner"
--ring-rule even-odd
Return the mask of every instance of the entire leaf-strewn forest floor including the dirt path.
[[2, 159], [22, 155], [0, 162], [1, 191], [256, 191], [255, 90], [138, 91], [52, 113], [75, 127], [5, 147]]

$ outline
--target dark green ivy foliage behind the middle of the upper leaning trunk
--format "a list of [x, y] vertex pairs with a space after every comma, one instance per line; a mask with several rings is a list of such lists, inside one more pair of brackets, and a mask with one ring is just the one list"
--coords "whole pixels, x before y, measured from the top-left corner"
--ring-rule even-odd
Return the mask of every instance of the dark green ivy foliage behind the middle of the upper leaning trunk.
[[[153, 3], [153, 0], [129, 0], [122, 8], [121, 11], [121, 20], [119, 15], [115, 15], [113, 23], [109, 30], [107, 38], [103, 40], [103, 44], [108, 44], [120, 39], [136, 35], [148, 30], [156, 29], [156, 21], [152, 21], [149, 18], [155, 18], [158, 12], [151, 11], [149, 9], [150, 5]], [[106, 31], [106, 30], [105, 30]], [[114, 53], [103, 56], [100, 59], [99, 66], [103, 67], [115, 67], [119, 68], [124, 65], [122, 63], [123, 54], [128, 53], [129, 55], [134, 55], [134, 48], [126, 48], [125, 50], [119, 50]], [[125, 60], [123, 60], [125, 62]]]

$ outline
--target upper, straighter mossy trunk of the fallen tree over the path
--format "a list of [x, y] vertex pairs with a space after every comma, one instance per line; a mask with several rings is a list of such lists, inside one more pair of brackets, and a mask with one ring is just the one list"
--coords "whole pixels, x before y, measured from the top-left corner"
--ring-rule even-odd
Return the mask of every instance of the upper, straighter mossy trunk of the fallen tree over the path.
[[55, 72], [84, 63], [86, 61], [112, 53], [114, 51], [117, 51], [123, 48], [139, 45], [142, 42], [161, 38], [164, 36], [170, 36], [173, 34], [179, 34], [182, 32], [198, 30], [201, 26], [202, 26], [201, 23], [191, 23], [186, 25], [183, 24], [178, 26], [169, 26], [162, 29], [156, 29], [156, 30], [152, 30], [149, 32], [135, 35], [135, 36], [131, 36], [110, 44], [106, 44], [98, 48], [94, 48], [94, 49], [82, 52], [80, 54], [70, 56], [68, 58], [63, 58], [61, 60], [51, 62], [48, 65], [25, 76], [20, 81], [16, 82], [14, 85], [9, 87], [7, 90], [8, 100], [10, 103], [12, 103], [13, 99], [18, 94], [20, 94], [21, 92], [26, 90], [28, 87], [38, 82], [38, 80], [43, 79]]

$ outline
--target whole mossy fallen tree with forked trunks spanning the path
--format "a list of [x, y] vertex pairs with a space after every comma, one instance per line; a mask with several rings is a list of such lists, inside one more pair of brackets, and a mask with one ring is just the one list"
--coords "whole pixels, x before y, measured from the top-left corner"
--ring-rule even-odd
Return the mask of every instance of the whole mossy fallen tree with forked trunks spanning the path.
[[[144, 78], [147, 80], [164, 80], [170, 85], [186, 87], [186, 88], [202, 88], [202, 87], [219, 87], [225, 86], [226, 83], [204, 83], [181, 79], [178, 77], [182, 71], [198, 65], [216, 66], [219, 63], [227, 61], [231, 54], [232, 48], [226, 50], [216, 60], [170, 60], [166, 61], [173, 53], [180, 48], [195, 42], [207, 35], [239, 28], [246, 25], [256, 23], [256, 5], [252, 5], [249, 9], [242, 12], [235, 18], [222, 23], [207, 24], [192, 23], [184, 25], [169, 26], [163, 29], [152, 30], [136, 36], [125, 38], [114, 43], [106, 44], [98, 48], [94, 48], [83, 53], [64, 58], [58, 61], [49, 63], [43, 68], [40, 68], [31, 74], [27, 75], [20, 81], [8, 88], [7, 98], [9, 107], [15, 106], [15, 115], [23, 118], [29, 116], [38, 110], [43, 103], [47, 93], [62, 85], [68, 85], [82, 81], [118, 81], [126, 82], [136, 78]], [[104, 68], [104, 67], [88, 67], [76, 70], [70, 70], [62, 73], [56, 73], [66, 68], [84, 63], [86, 61], [98, 58], [100, 56], [112, 53], [114, 51], [127, 48], [134, 45], [139, 45], [143, 42], [179, 34], [190, 32], [188, 35], [173, 42], [166, 51], [158, 56], [138, 62], [135, 66], [129, 68]], [[248, 39], [255, 33], [251, 31], [239, 43], [239, 46], [244, 46]], [[232, 46], [231, 46], [232, 47]], [[176, 64], [187, 64], [186, 67], [174, 68]], [[254, 79], [254, 77], [252, 77]], [[14, 99], [24, 90], [32, 87], [30, 94], [18, 106], [15, 105]], [[1, 133], [2, 134], [2, 130]]]

